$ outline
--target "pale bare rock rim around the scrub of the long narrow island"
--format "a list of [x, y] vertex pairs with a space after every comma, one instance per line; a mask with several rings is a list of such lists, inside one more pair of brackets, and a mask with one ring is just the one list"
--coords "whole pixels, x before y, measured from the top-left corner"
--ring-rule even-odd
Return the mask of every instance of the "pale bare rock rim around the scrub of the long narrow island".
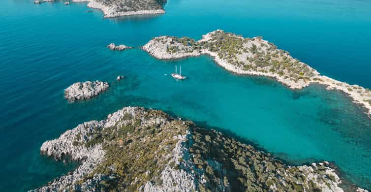
[[[196, 41], [196, 43], [205, 43], [205, 42], [216, 42], [216, 34], [223, 33], [227, 35], [232, 35], [237, 38], [241, 38], [241, 40], [244, 39], [244, 37], [240, 35], [235, 35], [233, 33], [225, 33], [222, 30], [216, 30], [214, 32], [209, 32], [205, 35], [202, 35], [202, 39]], [[216, 64], [222, 66], [228, 71], [237, 73], [237, 74], [243, 74], [243, 75], [258, 75], [258, 76], [266, 76], [277, 79], [278, 82], [282, 83], [283, 85], [291, 88], [291, 89], [302, 89], [307, 86], [309, 86], [311, 83], [318, 83], [320, 85], [324, 85], [327, 90], [340, 90], [344, 93], [346, 93], [349, 97], [352, 98], [352, 101], [357, 104], [361, 104], [364, 106], [367, 111], [366, 114], [368, 114], [369, 117], [371, 117], [371, 91], [369, 89], [365, 89], [359, 85], [349, 85], [348, 83], [341, 82], [335, 79], [332, 79], [330, 77], [321, 75], [319, 72], [317, 72], [315, 69], [310, 67], [307, 64], [304, 64], [302, 62], [299, 62], [298, 60], [292, 58], [287, 52], [284, 52], [283, 50], [277, 49], [275, 45], [272, 43], [269, 43], [266, 40], [261, 39], [260, 37], [254, 37], [254, 38], [246, 38], [247, 41], [244, 41], [245, 43], [243, 46], [238, 49], [240, 51], [235, 55], [236, 61], [242, 62], [244, 64], [253, 64], [253, 62], [248, 61], [249, 56], [254, 56], [251, 53], [247, 51], [247, 49], [251, 49], [252, 44], [254, 44], [256, 47], [261, 48], [264, 51], [270, 50], [270, 48], [273, 46], [275, 48], [275, 51], [282, 51], [283, 56], [286, 58], [289, 58], [290, 60], [297, 61], [297, 63], [301, 66], [307, 67], [308, 71], [310, 71], [310, 77], [308, 78], [300, 78], [293, 80], [292, 78], [288, 78], [288, 73], [290, 73], [288, 70], [281, 70], [281, 73], [278, 73], [278, 70], [270, 70], [268, 67], [258, 67], [258, 68], [245, 68], [244, 64], [231, 64], [231, 60], [228, 60], [226, 57], [220, 57], [220, 52], [213, 51], [210, 48], [200, 47], [200, 49], [194, 49], [190, 45], [185, 45], [183, 43], [175, 42], [174, 38], [177, 37], [170, 37], [170, 36], [159, 36], [155, 37], [152, 40], [150, 40], [146, 45], [142, 47], [142, 49], [146, 52], [148, 52], [150, 55], [157, 59], [179, 59], [179, 58], [185, 58], [185, 57], [194, 57], [194, 56], [200, 56], [202, 54], [210, 55], [214, 58], [214, 61]], [[246, 40], [245, 39], [245, 40]], [[220, 45], [220, 44], [218, 44]], [[176, 46], [177, 49], [174, 51], [174, 49], [171, 49], [169, 51], [169, 47], [172, 48]], [[247, 58], [247, 59], [246, 59]], [[286, 75], [287, 73], [287, 75]], [[292, 75], [292, 74], [291, 74]]]

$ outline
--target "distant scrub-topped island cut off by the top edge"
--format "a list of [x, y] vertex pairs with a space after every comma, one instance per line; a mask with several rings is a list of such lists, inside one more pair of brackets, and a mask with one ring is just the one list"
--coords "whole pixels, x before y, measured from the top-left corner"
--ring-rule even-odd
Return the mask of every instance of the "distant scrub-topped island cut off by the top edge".
[[[37, 0], [37, 3], [58, 0]], [[162, 14], [166, 0], [72, 0], [88, 2], [88, 7], [100, 9], [104, 18], [127, 15]], [[36, 3], [36, 1], [35, 1]]]

